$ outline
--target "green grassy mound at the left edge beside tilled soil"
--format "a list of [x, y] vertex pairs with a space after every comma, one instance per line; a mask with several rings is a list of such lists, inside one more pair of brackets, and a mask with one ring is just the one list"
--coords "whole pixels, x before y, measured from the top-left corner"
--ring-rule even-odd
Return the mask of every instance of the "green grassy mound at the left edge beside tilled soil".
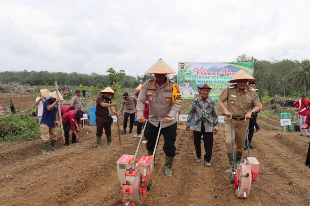
[[9, 114], [0, 121], [0, 141], [32, 140], [40, 136], [38, 121], [27, 114]]

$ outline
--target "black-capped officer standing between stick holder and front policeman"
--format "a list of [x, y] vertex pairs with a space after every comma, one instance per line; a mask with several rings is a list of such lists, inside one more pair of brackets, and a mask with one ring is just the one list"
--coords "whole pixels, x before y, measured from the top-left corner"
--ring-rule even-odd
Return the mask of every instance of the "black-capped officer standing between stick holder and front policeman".
[[130, 134], [132, 133], [132, 128], [134, 127], [134, 121], [135, 121], [136, 104], [137, 104], [137, 99], [135, 97], [129, 96], [127, 92], [124, 92], [121, 109], [119, 110], [119, 114], [122, 115], [123, 109], [125, 107], [124, 123], [123, 123], [124, 130], [122, 131], [122, 134], [126, 134], [128, 117], [130, 117], [129, 118], [129, 133]]

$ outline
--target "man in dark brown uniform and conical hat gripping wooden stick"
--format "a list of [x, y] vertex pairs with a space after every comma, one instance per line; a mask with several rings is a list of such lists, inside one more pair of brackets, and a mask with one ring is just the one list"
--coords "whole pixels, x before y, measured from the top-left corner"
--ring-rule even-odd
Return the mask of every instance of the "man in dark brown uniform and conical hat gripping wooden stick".
[[113, 118], [109, 116], [109, 109], [114, 115], [119, 115], [118, 112], [115, 111], [113, 106], [117, 106], [117, 101], [111, 101], [110, 97], [114, 95], [114, 91], [107, 87], [100, 92], [102, 96], [97, 97], [96, 100], [96, 127], [97, 127], [97, 148], [101, 148], [101, 137], [103, 134], [103, 129], [105, 131], [105, 135], [107, 136], [108, 145], [112, 145], [112, 132], [111, 125], [113, 123]]

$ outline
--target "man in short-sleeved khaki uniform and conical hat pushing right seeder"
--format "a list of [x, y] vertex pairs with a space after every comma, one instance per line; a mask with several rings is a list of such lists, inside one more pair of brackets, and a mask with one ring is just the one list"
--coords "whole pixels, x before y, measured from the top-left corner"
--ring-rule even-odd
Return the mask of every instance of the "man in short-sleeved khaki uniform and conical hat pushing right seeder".
[[[232, 162], [232, 144], [231, 144], [231, 130], [230, 130], [230, 119], [232, 119], [232, 132], [235, 139], [236, 151], [236, 166], [240, 164], [244, 142], [246, 139], [246, 130], [244, 122], [249, 125], [249, 119], [251, 114], [259, 112], [262, 109], [262, 103], [259, 101], [258, 94], [255, 89], [246, 85], [247, 82], [256, 81], [251, 75], [245, 71], [240, 70], [235, 76], [232, 77], [228, 82], [237, 83], [229, 85], [224, 92], [219, 96], [219, 106], [224, 110], [225, 117], [225, 139], [226, 139], [226, 151], [230, 162], [230, 168], [225, 170], [224, 173], [230, 174], [233, 170]], [[227, 100], [227, 109], [224, 102]], [[251, 109], [251, 105], [254, 105]], [[245, 116], [244, 119], [234, 118], [232, 114]]]

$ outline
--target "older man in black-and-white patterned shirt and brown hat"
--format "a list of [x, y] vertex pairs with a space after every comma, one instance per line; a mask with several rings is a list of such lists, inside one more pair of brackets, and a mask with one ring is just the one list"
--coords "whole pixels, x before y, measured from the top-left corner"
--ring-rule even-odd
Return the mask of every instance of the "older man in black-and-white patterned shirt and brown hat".
[[201, 162], [201, 135], [203, 135], [203, 144], [205, 147], [204, 163], [207, 167], [210, 167], [210, 160], [212, 156], [213, 147], [213, 134], [218, 131], [217, 125], [219, 123], [216, 104], [208, 94], [210, 87], [208, 84], [202, 84], [199, 88], [201, 91], [201, 97], [194, 99], [191, 109], [187, 116], [186, 130], [190, 130], [190, 122], [195, 115], [194, 121], [194, 145], [196, 150], [197, 162]]

